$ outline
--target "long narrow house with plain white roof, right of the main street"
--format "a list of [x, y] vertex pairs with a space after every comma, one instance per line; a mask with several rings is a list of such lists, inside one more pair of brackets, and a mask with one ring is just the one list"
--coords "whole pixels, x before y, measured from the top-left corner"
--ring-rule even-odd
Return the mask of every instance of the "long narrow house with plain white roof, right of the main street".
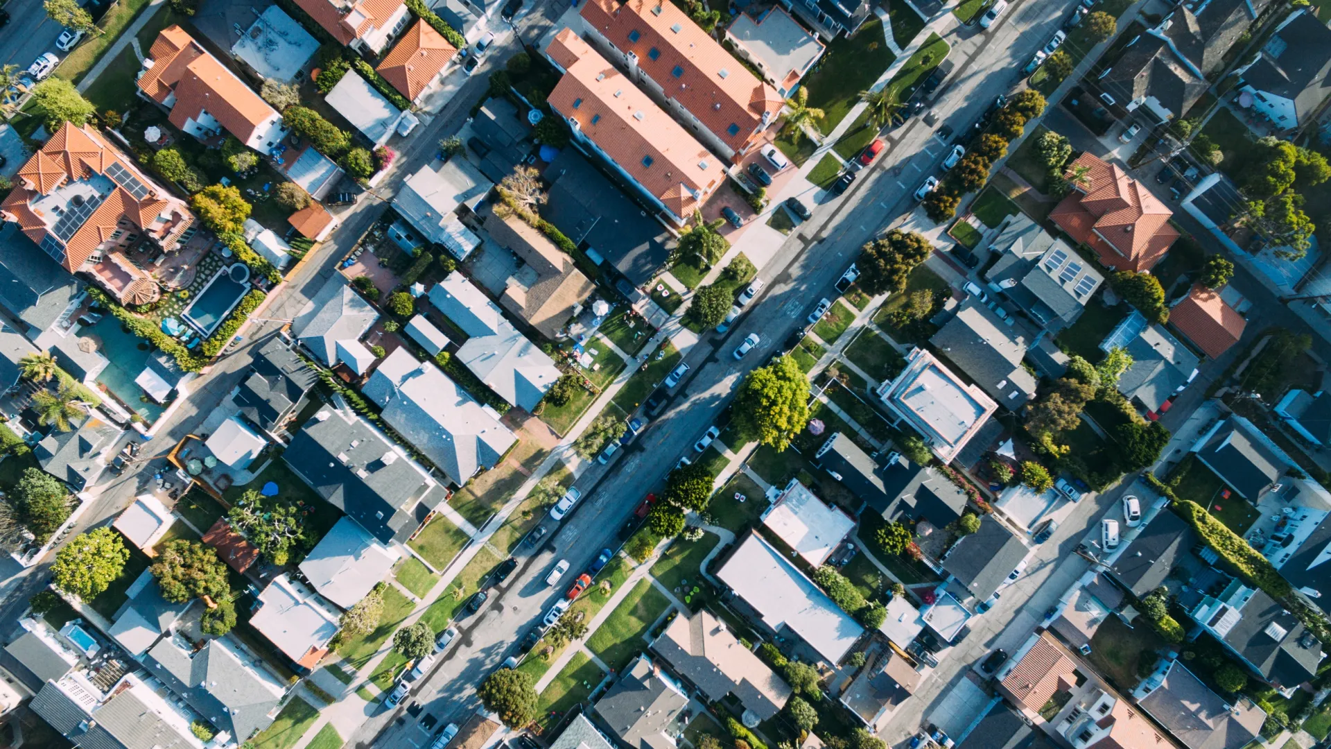
[[749, 534], [725, 561], [717, 580], [772, 633], [800, 637], [837, 664], [864, 634], [812, 580], [757, 534]]

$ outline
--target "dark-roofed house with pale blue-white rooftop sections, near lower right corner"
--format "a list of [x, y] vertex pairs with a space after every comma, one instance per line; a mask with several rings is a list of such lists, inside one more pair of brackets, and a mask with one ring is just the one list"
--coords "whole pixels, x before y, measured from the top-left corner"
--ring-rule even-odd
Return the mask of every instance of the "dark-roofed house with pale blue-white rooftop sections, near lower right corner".
[[1292, 693], [1311, 680], [1324, 653], [1303, 622], [1267, 596], [1238, 580], [1218, 596], [1203, 596], [1189, 616], [1219, 640], [1258, 678]]

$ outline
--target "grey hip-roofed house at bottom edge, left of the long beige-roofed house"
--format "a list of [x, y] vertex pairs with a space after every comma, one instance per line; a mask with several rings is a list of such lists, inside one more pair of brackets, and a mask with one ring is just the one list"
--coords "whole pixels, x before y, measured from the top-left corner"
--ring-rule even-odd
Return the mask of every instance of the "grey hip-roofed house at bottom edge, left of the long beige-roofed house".
[[687, 722], [687, 706], [684, 688], [647, 656], [638, 656], [592, 709], [622, 746], [675, 749], [675, 736]]

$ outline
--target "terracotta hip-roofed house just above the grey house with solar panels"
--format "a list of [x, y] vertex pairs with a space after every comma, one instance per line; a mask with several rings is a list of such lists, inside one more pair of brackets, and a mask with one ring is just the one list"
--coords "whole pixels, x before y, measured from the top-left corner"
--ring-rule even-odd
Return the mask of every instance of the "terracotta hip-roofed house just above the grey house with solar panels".
[[1174, 212], [1117, 164], [1082, 153], [1069, 164], [1069, 173], [1078, 167], [1090, 168], [1089, 184], [1077, 185], [1049, 219], [1094, 249], [1102, 264], [1150, 271], [1179, 236], [1169, 223]]

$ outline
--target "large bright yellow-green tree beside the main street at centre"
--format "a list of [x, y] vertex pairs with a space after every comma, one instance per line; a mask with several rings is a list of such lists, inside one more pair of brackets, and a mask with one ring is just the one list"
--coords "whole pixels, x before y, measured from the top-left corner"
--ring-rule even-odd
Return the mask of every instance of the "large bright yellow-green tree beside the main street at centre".
[[757, 434], [759, 442], [784, 450], [809, 421], [809, 380], [795, 357], [787, 355], [748, 373], [735, 396], [737, 422]]

